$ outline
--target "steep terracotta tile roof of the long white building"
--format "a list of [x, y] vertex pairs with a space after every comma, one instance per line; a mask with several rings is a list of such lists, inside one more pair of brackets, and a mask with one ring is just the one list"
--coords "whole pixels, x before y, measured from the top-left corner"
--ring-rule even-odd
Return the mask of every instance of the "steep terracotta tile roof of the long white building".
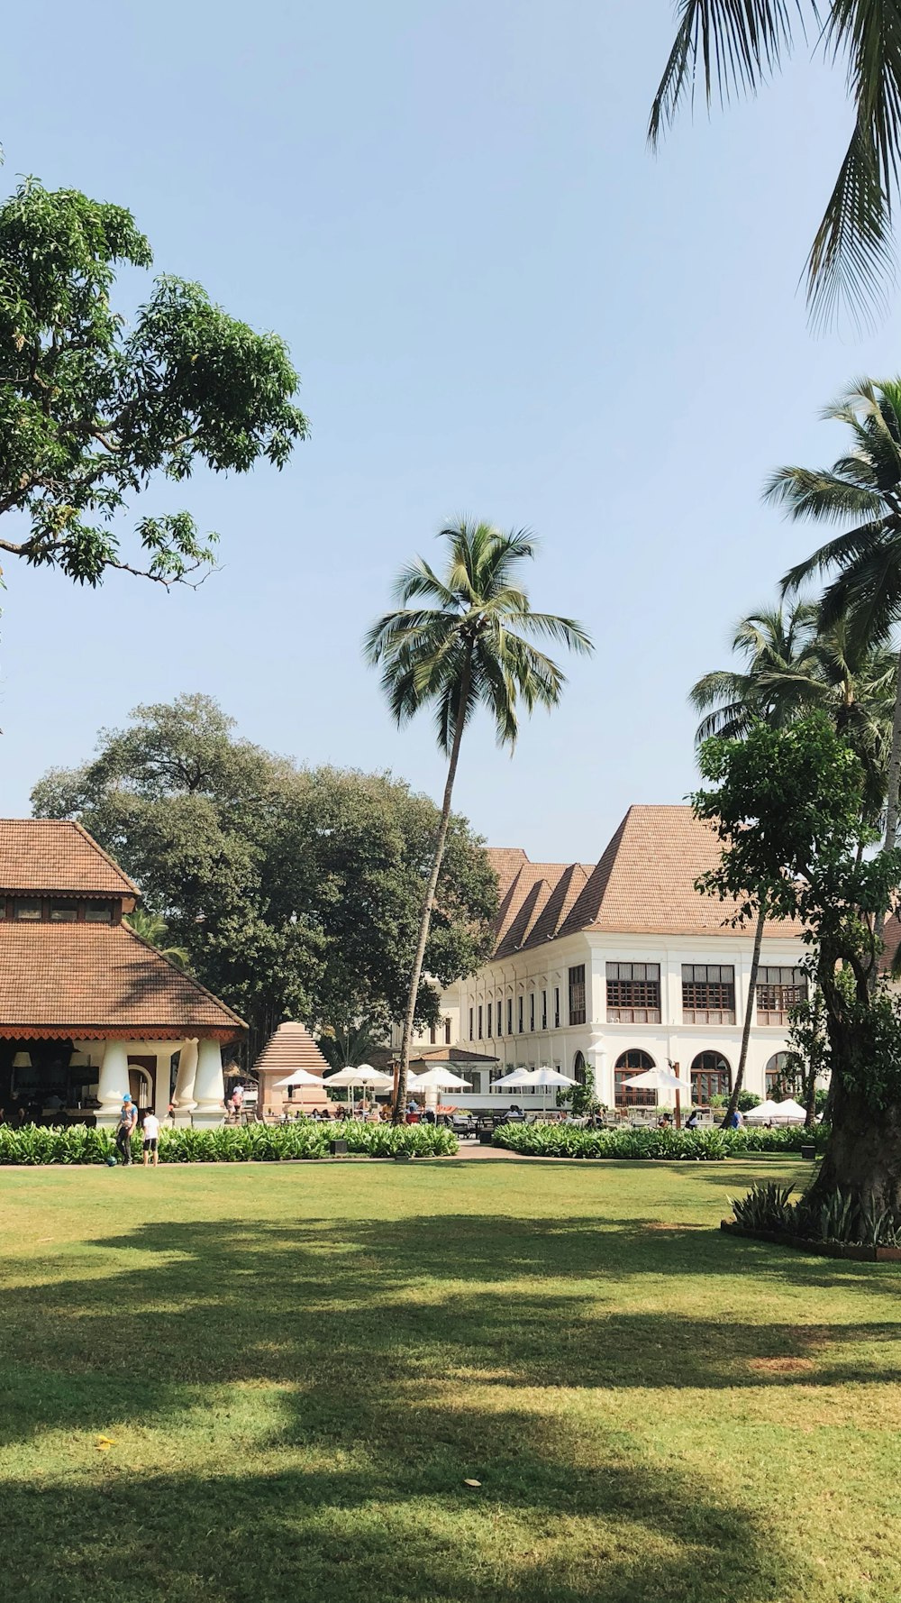
[[[511, 853], [503, 851], [505, 862]], [[494, 862], [494, 854], [489, 853]], [[694, 890], [717, 867], [720, 843], [689, 806], [632, 806], [596, 864], [531, 864], [508, 882], [497, 920], [495, 957], [582, 930], [616, 935], [723, 935], [736, 902]], [[535, 894], [537, 882], [547, 894]], [[540, 899], [540, 909], [537, 901]], [[766, 923], [766, 935], [800, 935]], [[901, 939], [901, 933], [899, 933]]]

